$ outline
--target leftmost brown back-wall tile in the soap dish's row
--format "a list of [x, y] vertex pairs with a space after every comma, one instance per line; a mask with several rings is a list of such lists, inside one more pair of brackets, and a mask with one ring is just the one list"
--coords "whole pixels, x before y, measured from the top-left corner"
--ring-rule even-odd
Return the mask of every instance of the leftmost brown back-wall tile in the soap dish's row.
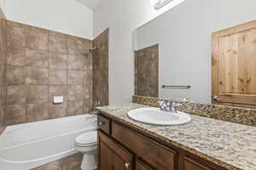
[[26, 91], [25, 85], [9, 86], [7, 89], [7, 105], [25, 105]]

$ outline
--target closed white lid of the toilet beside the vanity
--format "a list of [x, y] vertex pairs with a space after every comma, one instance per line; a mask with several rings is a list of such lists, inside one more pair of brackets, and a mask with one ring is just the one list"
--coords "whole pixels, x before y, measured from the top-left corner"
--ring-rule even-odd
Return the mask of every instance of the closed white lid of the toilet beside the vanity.
[[89, 133], [81, 134], [75, 139], [77, 144], [95, 144], [97, 140], [97, 132], [92, 131]]

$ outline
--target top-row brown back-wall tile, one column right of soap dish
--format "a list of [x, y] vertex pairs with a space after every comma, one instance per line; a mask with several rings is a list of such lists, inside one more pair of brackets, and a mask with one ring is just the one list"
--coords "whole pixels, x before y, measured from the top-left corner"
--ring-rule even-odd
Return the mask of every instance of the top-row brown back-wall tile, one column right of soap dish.
[[84, 42], [82, 39], [68, 38], [68, 54], [84, 54]]

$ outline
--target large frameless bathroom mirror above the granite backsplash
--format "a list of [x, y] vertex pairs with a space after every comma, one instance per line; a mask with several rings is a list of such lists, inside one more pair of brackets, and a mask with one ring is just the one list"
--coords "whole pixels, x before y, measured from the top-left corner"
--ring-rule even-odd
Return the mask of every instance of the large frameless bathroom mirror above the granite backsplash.
[[[254, 20], [253, 14], [251, 14], [252, 11], [239, 11], [236, 10], [237, 8], [239, 7], [235, 7], [235, 5], [230, 7], [225, 3], [219, 5], [214, 1], [200, 5], [185, 1], [154, 20], [138, 27], [133, 32], [134, 94], [158, 97], [160, 99], [182, 100], [187, 98], [196, 103], [206, 104], [211, 104], [212, 100], [214, 100], [213, 97], [215, 97], [216, 101], [224, 99], [221, 96], [212, 95], [212, 91], [214, 91], [212, 90], [214, 85], [212, 63], [214, 64], [215, 62], [214, 60], [212, 62], [212, 33], [233, 26], [240, 25], [242, 27], [241, 24]], [[247, 25], [244, 24], [244, 26]], [[240, 41], [238, 39], [237, 41]], [[218, 42], [218, 39], [216, 41]], [[223, 47], [226, 48], [227, 46], [223, 44]], [[256, 50], [256, 47], [254, 49]], [[247, 49], [239, 50], [245, 52]], [[227, 49], [225, 55], [227, 59], [230, 56], [228, 54], [230, 53], [229, 51], [233, 54], [237, 52], [236, 49]], [[240, 55], [237, 58], [241, 59], [242, 57]], [[256, 68], [256, 61], [254, 64]], [[251, 71], [256, 71], [255, 69], [253, 70], [253, 65]], [[227, 75], [234, 76], [237, 70], [241, 70], [239, 68], [237, 70], [228, 69], [228, 67], [234, 68], [232, 65], [224, 64], [223, 66]], [[255, 87], [255, 78], [252, 76], [252, 79], [250, 78], [251, 82], [247, 81], [251, 83], [248, 87]], [[230, 78], [230, 80], [226, 78], [225, 81], [226, 84], [229, 83], [228, 86], [234, 89], [236, 86], [239, 88], [240, 79], [241, 76]], [[224, 83], [221, 80], [217, 80], [218, 82]], [[224, 91], [224, 94], [228, 96], [235, 91], [230, 89]], [[252, 90], [249, 93], [256, 93], [256, 90], [253, 91], [254, 88], [250, 89]], [[241, 93], [246, 94], [242, 90], [244, 89], [234, 92], [236, 96], [232, 99], [236, 99]], [[253, 99], [250, 99], [253, 102]], [[249, 98], [243, 102], [247, 103], [248, 100]], [[241, 102], [241, 99], [239, 102]], [[220, 102], [218, 104], [222, 105]], [[255, 102], [252, 104], [256, 105]], [[248, 107], [250, 106], [248, 105]]]

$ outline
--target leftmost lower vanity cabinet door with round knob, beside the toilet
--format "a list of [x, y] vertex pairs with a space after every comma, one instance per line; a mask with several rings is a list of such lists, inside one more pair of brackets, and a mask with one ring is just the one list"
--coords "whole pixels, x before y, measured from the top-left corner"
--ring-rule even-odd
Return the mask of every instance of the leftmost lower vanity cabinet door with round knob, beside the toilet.
[[133, 156], [105, 134], [98, 132], [99, 170], [131, 170]]

